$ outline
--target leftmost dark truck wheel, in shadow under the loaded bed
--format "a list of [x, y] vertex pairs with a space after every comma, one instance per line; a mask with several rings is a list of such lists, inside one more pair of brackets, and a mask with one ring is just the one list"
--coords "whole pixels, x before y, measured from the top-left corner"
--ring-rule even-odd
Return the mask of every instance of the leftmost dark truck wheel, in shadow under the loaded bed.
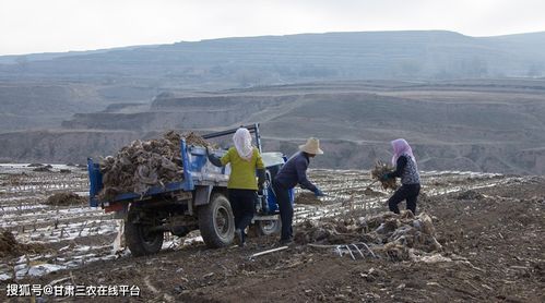
[[163, 246], [163, 231], [151, 231], [152, 226], [125, 221], [125, 240], [133, 256], [152, 255]]

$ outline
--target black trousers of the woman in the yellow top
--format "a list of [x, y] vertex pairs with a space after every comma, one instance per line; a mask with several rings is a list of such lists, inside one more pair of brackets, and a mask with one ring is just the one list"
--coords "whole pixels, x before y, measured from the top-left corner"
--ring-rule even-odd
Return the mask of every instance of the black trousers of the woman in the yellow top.
[[245, 229], [253, 219], [257, 198], [257, 191], [229, 189], [229, 203], [235, 216], [235, 229], [240, 229], [242, 232], [242, 241], [246, 238]]

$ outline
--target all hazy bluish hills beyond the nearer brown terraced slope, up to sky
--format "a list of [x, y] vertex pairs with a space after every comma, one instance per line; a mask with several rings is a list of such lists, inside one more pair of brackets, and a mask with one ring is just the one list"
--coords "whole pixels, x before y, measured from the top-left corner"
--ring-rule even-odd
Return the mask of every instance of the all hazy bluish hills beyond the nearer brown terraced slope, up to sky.
[[379, 78], [540, 78], [544, 44], [545, 32], [478, 38], [446, 31], [362, 32], [4, 56], [0, 129], [55, 128], [74, 113], [149, 104], [171, 92]]

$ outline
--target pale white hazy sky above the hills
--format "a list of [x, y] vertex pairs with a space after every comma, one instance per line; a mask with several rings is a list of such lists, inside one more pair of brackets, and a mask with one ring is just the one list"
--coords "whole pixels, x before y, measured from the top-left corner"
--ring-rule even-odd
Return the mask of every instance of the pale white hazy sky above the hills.
[[542, 0], [0, 0], [0, 54], [222, 37], [448, 29], [545, 31]]

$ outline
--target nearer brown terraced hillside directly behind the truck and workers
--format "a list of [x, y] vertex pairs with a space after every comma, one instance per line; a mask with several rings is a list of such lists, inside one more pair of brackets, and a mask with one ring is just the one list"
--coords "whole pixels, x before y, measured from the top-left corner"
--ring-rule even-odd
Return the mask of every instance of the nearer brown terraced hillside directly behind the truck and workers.
[[[147, 105], [79, 113], [62, 129], [0, 134], [0, 160], [82, 162], [166, 130], [202, 133], [261, 123], [265, 150], [296, 152], [308, 136], [316, 167], [369, 168], [408, 140], [424, 170], [545, 173], [545, 81], [329, 82], [165, 93]], [[225, 138], [227, 144], [229, 138]]]

